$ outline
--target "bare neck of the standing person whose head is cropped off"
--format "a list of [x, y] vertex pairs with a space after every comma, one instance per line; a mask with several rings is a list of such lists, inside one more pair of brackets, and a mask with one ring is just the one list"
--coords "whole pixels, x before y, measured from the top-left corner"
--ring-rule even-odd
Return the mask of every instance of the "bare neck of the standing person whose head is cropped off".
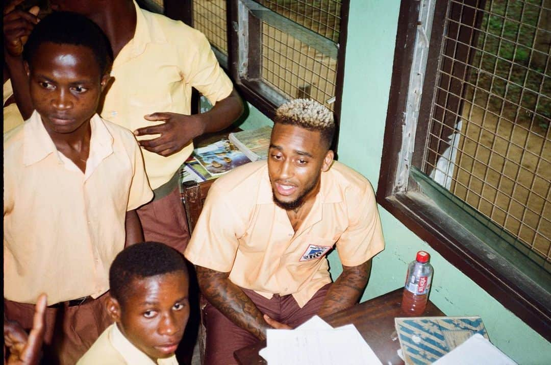
[[132, 1], [106, 2], [101, 12], [91, 15], [90, 19], [107, 35], [113, 57], [117, 57], [136, 33], [136, 8]]

